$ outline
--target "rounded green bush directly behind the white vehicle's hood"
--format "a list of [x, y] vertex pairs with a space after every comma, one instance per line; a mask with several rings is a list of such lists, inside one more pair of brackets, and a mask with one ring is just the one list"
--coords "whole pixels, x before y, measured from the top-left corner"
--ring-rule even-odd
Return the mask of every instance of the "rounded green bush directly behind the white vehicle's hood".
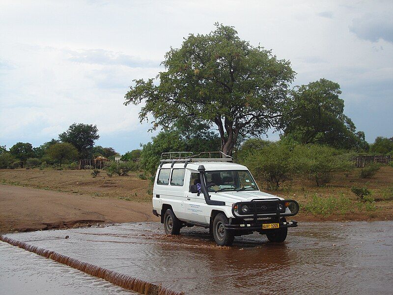
[[284, 142], [265, 145], [250, 151], [244, 164], [253, 171], [253, 175], [262, 177], [270, 189], [278, 189], [282, 181], [290, 178], [296, 167], [291, 160], [291, 147]]

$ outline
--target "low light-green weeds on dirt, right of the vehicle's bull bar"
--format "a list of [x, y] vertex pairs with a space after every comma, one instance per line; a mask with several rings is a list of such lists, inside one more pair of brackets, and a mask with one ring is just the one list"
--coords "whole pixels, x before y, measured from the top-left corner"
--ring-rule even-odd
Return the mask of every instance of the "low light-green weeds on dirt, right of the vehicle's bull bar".
[[345, 214], [353, 211], [352, 202], [343, 194], [339, 197], [322, 197], [314, 194], [312, 200], [304, 206], [313, 215], [329, 216], [333, 213]]

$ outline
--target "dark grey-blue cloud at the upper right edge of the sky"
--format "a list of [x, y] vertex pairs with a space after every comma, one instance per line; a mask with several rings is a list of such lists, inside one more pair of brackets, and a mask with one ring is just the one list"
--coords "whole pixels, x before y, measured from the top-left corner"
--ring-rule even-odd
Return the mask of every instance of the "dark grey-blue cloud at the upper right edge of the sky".
[[364, 15], [356, 18], [349, 27], [360, 39], [378, 42], [383, 39], [393, 43], [393, 19], [391, 15]]

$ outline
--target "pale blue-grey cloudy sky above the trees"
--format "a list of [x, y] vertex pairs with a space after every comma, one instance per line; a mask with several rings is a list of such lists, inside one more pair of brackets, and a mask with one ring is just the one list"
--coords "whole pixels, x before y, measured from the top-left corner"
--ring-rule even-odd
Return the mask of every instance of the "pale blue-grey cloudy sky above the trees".
[[[393, 136], [393, 1], [0, 1], [0, 145], [34, 147], [72, 123], [124, 153], [156, 133], [124, 106], [134, 79], [214, 23], [291, 61], [293, 86], [326, 78], [370, 143]], [[269, 139], [278, 139], [269, 132]]]

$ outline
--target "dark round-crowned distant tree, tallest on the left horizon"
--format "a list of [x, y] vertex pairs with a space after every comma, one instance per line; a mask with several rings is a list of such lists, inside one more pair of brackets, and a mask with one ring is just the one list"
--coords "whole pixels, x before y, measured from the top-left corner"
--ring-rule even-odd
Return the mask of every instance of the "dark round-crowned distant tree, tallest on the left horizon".
[[81, 158], [89, 158], [94, 142], [100, 136], [98, 135], [96, 125], [74, 123], [65, 132], [61, 133], [58, 138], [63, 143], [73, 145], [78, 150]]

